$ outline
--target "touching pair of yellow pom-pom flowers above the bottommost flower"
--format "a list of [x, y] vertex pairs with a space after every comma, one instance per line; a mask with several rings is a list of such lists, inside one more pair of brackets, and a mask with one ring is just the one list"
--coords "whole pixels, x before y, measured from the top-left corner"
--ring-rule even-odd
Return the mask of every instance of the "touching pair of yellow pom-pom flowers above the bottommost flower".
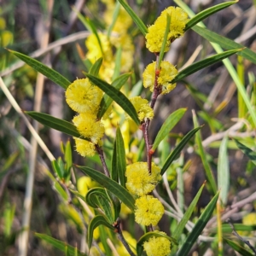
[[148, 173], [146, 162], [137, 162], [126, 167], [126, 189], [131, 194], [140, 196], [135, 202], [135, 220], [138, 224], [156, 225], [164, 214], [164, 207], [160, 201], [152, 195], [148, 195], [160, 181], [160, 167], [154, 163], [151, 173]]

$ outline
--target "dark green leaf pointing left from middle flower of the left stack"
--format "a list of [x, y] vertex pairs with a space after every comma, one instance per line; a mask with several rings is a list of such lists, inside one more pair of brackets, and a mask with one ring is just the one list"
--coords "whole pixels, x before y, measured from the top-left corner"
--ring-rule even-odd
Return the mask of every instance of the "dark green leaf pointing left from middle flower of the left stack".
[[31, 116], [32, 119], [37, 120], [39, 123], [43, 125], [46, 125], [57, 131], [62, 131], [67, 135], [70, 135], [73, 137], [81, 137], [81, 135], [79, 134], [79, 131], [77, 130], [77, 127], [72, 123], [67, 122], [66, 120], [57, 119], [47, 113], [40, 113], [36, 111], [25, 111], [25, 113]]

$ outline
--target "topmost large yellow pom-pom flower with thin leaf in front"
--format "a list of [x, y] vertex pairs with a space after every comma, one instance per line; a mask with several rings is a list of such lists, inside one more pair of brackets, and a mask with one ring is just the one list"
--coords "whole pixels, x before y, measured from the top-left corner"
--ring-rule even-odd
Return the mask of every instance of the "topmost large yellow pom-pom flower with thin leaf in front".
[[183, 9], [178, 7], [175, 8], [171, 6], [162, 11], [160, 17], [155, 20], [154, 25], [148, 27], [148, 33], [146, 34], [146, 47], [151, 52], [160, 52], [166, 32], [167, 14], [171, 16], [171, 23], [165, 51], [169, 49], [170, 44], [174, 39], [183, 35], [186, 23], [189, 21], [188, 15]]

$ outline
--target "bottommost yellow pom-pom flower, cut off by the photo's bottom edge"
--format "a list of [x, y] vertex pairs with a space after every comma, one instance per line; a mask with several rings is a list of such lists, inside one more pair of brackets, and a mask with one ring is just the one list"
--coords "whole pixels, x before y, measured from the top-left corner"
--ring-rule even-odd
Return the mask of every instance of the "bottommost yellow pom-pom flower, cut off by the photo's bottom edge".
[[[159, 232], [166, 235], [165, 232]], [[144, 251], [148, 256], [166, 256], [171, 253], [171, 241], [165, 237], [152, 236], [143, 243]]]

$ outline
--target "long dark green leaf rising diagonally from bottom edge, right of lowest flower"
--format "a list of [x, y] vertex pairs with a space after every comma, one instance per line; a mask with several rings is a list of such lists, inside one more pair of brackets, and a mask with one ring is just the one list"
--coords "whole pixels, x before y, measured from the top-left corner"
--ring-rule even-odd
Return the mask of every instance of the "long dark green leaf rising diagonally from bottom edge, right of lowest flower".
[[184, 241], [180, 250], [177, 252], [177, 256], [184, 256], [184, 255], [189, 254], [189, 251], [190, 251], [191, 247], [193, 246], [194, 242], [196, 241], [198, 236], [200, 236], [201, 231], [204, 229], [208, 220], [212, 216], [212, 212], [213, 212], [215, 205], [218, 201], [218, 194], [219, 193], [214, 195], [214, 197], [212, 198], [212, 201], [209, 202], [209, 204], [205, 208], [204, 212], [201, 213], [201, 216], [197, 220], [193, 230], [189, 233], [189, 236]]

